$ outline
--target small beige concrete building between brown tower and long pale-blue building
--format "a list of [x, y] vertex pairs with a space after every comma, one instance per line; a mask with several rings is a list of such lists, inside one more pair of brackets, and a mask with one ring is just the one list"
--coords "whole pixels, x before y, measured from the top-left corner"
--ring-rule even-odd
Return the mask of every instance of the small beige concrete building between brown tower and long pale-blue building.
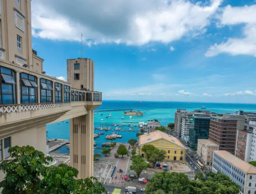
[[219, 150], [219, 145], [209, 139], [198, 139], [197, 158], [204, 165], [212, 166], [213, 151]]

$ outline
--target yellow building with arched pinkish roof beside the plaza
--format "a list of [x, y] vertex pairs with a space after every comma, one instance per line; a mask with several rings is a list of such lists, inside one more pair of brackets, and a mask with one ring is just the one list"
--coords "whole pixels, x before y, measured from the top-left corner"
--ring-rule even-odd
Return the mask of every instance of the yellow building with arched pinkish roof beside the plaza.
[[165, 134], [162, 131], [154, 131], [149, 134], [139, 136], [139, 150], [144, 145], [151, 144], [158, 149], [166, 151], [166, 160], [185, 161], [185, 146], [174, 136]]

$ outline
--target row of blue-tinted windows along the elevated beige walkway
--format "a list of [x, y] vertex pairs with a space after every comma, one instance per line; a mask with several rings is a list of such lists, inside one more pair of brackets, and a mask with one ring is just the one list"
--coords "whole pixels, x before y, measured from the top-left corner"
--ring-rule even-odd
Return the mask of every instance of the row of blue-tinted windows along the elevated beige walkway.
[[[16, 76], [15, 71], [0, 67], [0, 104], [15, 104], [16, 102]], [[61, 83], [54, 83], [44, 78], [37, 83], [36, 76], [27, 73], [20, 73], [20, 103], [37, 103], [38, 87], [40, 86], [40, 102], [70, 102], [71, 101], [92, 101], [92, 93], [71, 91], [70, 86], [62, 86]], [[39, 86], [38, 86], [39, 85]], [[63, 91], [64, 89], [64, 91]], [[62, 91], [64, 96], [62, 96]], [[71, 99], [70, 99], [71, 93]], [[101, 93], [93, 93], [94, 101], [102, 101]]]

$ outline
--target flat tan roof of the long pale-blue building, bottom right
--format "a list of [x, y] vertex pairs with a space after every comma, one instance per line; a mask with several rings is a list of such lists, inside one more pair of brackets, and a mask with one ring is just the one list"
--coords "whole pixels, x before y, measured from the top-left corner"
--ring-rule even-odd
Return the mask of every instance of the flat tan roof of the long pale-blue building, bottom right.
[[230, 162], [230, 164], [233, 164], [234, 166], [238, 167], [238, 169], [244, 171], [245, 173], [256, 174], [255, 166], [252, 166], [246, 161], [239, 159], [238, 157], [234, 156], [230, 152], [224, 151], [224, 150], [217, 150], [214, 152], [218, 154], [220, 157], [222, 157], [223, 159], [225, 159], [226, 161]]

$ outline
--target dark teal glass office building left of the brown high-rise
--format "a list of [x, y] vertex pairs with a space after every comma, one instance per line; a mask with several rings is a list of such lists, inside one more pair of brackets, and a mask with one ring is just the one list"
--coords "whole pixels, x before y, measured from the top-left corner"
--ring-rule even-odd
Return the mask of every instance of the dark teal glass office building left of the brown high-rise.
[[190, 118], [189, 141], [191, 148], [197, 147], [198, 139], [209, 138], [210, 116], [192, 116]]

